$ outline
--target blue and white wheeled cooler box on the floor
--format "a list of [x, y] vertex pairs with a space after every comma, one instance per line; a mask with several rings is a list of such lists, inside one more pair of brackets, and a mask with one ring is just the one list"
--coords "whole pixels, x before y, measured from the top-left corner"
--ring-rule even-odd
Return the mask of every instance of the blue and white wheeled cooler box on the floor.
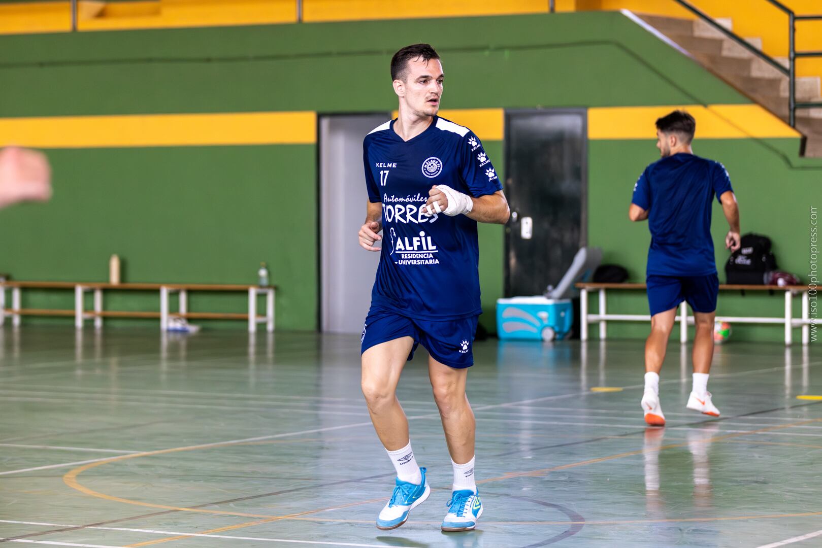
[[566, 338], [574, 321], [570, 299], [510, 297], [496, 300], [499, 338], [552, 341]]

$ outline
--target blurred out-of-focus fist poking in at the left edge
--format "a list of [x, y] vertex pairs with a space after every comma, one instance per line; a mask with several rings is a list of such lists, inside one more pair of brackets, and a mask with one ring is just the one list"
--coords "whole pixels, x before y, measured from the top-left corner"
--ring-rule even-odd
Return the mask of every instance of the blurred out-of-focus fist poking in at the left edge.
[[0, 150], [0, 208], [51, 197], [51, 168], [36, 150], [15, 146]]

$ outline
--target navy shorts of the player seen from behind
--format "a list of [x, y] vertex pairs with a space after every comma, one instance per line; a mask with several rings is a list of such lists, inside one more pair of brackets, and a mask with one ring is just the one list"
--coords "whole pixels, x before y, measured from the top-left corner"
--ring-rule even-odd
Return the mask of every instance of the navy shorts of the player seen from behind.
[[657, 276], [649, 274], [648, 304], [651, 315], [676, 308], [687, 302], [695, 312], [713, 312], [717, 309], [719, 278], [707, 276]]

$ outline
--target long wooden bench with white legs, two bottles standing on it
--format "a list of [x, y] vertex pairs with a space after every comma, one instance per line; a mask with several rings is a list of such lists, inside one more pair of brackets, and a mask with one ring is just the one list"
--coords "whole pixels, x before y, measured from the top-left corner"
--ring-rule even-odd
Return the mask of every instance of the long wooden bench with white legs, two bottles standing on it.
[[[12, 307], [6, 307], [6, 289], [12, 290]], [[74, 310], [48, 310], [23, 308], [23, 289], [65, 289], [74, 291]], [[103, 293], [106, 290], [116, 291], [156, 291], [159, 292], [159, 311], [104, 311]], [[98, 282], [0, 282], [0, 325], [6, 317], [12, 318], [12, 325], [21, 324], [24, 315], [39, 316], [73, 316], [74, 325], [82, 329], [85, 320], [94, 320], [95, 328], [103, 327], [104, 318], [159, 318], [160, 330], [169, 329], [170, 318], [192, 320], [247, 320], [248, 332], [256, 332], [257, 324], [266, 324], [266, 330], [274, 331], [274, 297], [276, 286], [261, 288], [256, 285], [238, 285], [225, 283], [98, 283]], [[247, 292], [247, 313], [233, 312], [189, 312], [188, 292]], [[86, 311], [83, 295], [94, 293], [94, 310]], [[169, 311], [169, 295], [178, 293], [178, 311]], [[258, 295], [266, 296], [266, 314], [258, 315], [256, 301]]]

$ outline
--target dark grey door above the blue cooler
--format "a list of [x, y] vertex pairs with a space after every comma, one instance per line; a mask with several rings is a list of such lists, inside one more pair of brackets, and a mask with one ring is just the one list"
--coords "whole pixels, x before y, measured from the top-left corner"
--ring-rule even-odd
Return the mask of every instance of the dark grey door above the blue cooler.
[[556, 285], [587, 240], [584, 110], [506, 113], [506, 295]]

